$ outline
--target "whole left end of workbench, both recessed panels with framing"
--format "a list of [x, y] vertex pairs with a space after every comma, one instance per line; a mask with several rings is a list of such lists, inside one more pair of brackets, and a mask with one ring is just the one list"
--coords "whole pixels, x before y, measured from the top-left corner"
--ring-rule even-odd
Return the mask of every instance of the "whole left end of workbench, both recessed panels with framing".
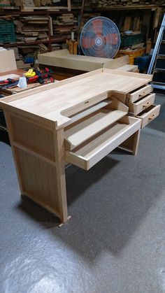
[[[62, 215], [60, 188], [65, 188], [65, 181], [62, 180], [62, 186], [59, 185], [61, 162], [55, 162], [59, 157], [59, 150], [55, 148], [54, 131], [26, 121], [26, 117], [16, 117], [9, 112], [5, 115], [21, 194], [55, 213], [62, 221], [67, 220]], [[38, 155], [43, 150], [51, 150], [48, 154], [53, 159], [48, 159], [43, 153]], [[65, 196], [64, 192], [66, 199]]]

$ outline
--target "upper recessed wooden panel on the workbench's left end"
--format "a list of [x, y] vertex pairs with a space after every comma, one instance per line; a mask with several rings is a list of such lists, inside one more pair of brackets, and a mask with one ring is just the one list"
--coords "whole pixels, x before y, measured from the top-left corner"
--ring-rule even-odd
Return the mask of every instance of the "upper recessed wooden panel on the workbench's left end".
[[52, 131], [37, 124], [10, 114], [13, 129], [13, 141], [21, 143], [34, 152], [55, 162]]

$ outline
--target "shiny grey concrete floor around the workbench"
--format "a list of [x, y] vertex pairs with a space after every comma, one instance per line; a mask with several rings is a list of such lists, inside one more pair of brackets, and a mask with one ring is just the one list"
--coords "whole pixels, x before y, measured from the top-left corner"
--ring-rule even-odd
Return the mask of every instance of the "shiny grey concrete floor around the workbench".
[[90, 171], [66, 170], [71, 220], [21, 199], [0, 141], [1, 293], [165, 292], [165, 97], [136, 157], [115, 150]]

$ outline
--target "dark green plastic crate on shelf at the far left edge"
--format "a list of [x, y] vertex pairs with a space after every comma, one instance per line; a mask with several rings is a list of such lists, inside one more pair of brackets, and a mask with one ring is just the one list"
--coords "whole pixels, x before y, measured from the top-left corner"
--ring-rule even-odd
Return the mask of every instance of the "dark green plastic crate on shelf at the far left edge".
[[0, 20], [0, 43], [15, 43], [15, 27], [13, 22]]

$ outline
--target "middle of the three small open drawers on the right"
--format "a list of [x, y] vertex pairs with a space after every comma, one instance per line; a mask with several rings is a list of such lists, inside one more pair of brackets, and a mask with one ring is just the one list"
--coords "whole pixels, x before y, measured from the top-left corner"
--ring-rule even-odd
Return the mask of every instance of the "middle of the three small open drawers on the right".
[[138, 115], [141, 113], [145, 108], [150, 107], [155, 101], [155, 94], [149, 94], [147, 97], [140, 99], [134, 103], [128, 102], [127, 106], [129, 107], [129, 111], [134, 113], [134, 115]]

